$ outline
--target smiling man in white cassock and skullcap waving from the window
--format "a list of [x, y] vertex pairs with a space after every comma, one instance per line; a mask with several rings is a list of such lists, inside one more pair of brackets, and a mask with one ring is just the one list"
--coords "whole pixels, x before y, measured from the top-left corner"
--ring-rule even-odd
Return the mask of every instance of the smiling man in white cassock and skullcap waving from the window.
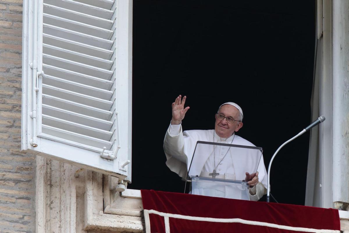
[[[222, 104], [215, 115], [214, 130], [187, 130], [182, 131], [181, 122], [184, 119], [189, 107], [185, 107], [186, 96], [179, 95], [172, 103], [172, 119], [164, 139], [164, 151], [167, 158], [166, 165], [172, 172], [177, 173], [183, 179], [187, 177], [187, 171], [193, 156], [197, 141], [209, 141], [215, 143], [226, 143], [244, 146], [254, 146], [249, 141], [239, 137], [235, 132], [242, 128], [243, 111], [233, 102]], [[225, 152], [224, 151], [225, 148]], [[200, 172], [200, 176], [213, 177], [213, 173], [219, 173], [216, 178], [229, 180], [245, 180], [250, 185], [250, 200], [258, 201], [266, 194], [267, 171], [263, 162], [263, 155], [260, 161], [246, 161], [244, 164], [233, 164], [233, 158], [228, 151], [229, 147], [216, 146], [214, 152], [203, 153], [200, 158], [195, 158], [195, 165], [191, 170]], [[244, 156], [244, 154], [240, 154]], [[247, 156], [247, 155], [246, 155]], [[251, 160], [251, 159], [250, 159]], [[253, 159], [252, 159], [253, 160]], [[258, 164], [257, 172], [246, 172], [250, 164]], [[244, 167], [245, 166], [245, 167]], [[205, 191], [201, 195], [225, 197], [224, 190], [216, 190], [215, 194]]]

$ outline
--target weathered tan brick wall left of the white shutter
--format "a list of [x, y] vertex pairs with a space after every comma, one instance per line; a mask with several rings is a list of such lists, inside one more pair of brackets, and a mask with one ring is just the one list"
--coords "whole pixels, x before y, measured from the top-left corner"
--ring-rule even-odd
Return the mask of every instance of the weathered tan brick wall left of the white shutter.
[[35, 157], [21, 152], [22, 0], [0, 0], [0, 232], [35, 232]]

